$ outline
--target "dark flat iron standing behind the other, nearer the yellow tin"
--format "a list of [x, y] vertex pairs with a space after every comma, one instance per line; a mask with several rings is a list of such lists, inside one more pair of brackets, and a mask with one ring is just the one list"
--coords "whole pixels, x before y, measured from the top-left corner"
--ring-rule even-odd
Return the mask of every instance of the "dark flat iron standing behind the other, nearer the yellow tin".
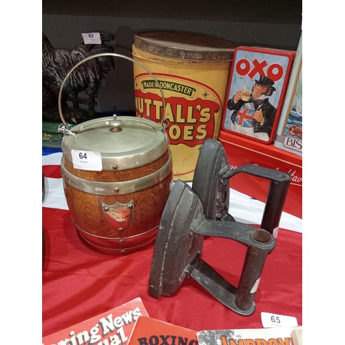
[[260, 228], [277, 237], [279, 221], [290, 186], [290, 174], [255, 164], [246, 164], [230, 170], [224, 147], [215, 139], [207, 139], [202, 146], [192, 185], [201, 201], [206, 218], [235, 221], [228, 214], [229, 179], [239, 173], [270, 180]]

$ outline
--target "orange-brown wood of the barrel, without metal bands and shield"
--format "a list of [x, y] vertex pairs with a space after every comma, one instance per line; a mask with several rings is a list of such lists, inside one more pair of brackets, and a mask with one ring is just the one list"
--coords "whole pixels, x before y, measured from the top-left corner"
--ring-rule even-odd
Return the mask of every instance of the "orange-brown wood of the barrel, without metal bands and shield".
[[[72, 162], [63, 158], [63, 164], [72, 175], [88, 181], [99, 182], [117, 182], [130, 181], [139, 177], [144, 177], [159, 170], [166, 161], [168, 161], [169, 152], [166, 151], [156, 161], [128, 170], [115, 171], [88, 171], [75, 169]], [[148, 238], [149, 230], [158, 226], [161, 214], [170, 193], [170, 183], [172, 181], [172, 172], [163, 181], [146, 188], [138, 190], [135, 193], [127, 193], [122, 195], [95, 195], [86, 193], [64, 183], [64, 192], [70, 214], [75, 222], [79, 233], [82, 237], [87, 237], [88, 242], [93, 243], [97, 247], [110, 249], [121, 249], [140, 246], [142, 242], [151, 239], [152, 234]], [[118, 230], [110, 226], [106, 218], [103, 216], [101, 202], [108, 205], [115, 204], [119, 201], [127, 204], [134, 201], [134, 213], [130, 224], [124, 230]], [[141, 236], [142, 235], [142, 236]], [[128, 241], [128, 238], [130, 240]]]

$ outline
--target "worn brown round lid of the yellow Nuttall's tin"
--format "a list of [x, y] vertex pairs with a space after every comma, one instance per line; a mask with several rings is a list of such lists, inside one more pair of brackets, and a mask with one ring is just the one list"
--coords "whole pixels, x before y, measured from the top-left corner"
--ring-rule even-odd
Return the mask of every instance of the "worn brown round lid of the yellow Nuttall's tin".
[[233, 50], [237, 47], [220, 37], [169, 30], [137, 32], [133, 45], [155, 55], [198, 61], [233, 59]]

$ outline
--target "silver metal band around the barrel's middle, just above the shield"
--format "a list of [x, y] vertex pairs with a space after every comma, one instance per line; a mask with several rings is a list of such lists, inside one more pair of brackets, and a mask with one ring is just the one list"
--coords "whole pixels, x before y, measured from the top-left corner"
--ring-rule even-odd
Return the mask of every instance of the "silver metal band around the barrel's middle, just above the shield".
[[121, 182], [97, 182], [90, 181], [88, 179], [81, 179], [80, 177], [72, 175], [68, 170], [66, 170], [63, 163], [61, 163], [61, 175], [67, 184], [83, 192], [97, 195], [121, 195], [134, 193], [163, 181], [168, 177], [171, 171], [172, 162], [170, 153], [168, 161], [166, 161], [166, 164], [159, 168], [159, 170], [156, 170], [155, 172], [152, 172], [152, 174], [144, 177], [139, 177], [139, 179]]

